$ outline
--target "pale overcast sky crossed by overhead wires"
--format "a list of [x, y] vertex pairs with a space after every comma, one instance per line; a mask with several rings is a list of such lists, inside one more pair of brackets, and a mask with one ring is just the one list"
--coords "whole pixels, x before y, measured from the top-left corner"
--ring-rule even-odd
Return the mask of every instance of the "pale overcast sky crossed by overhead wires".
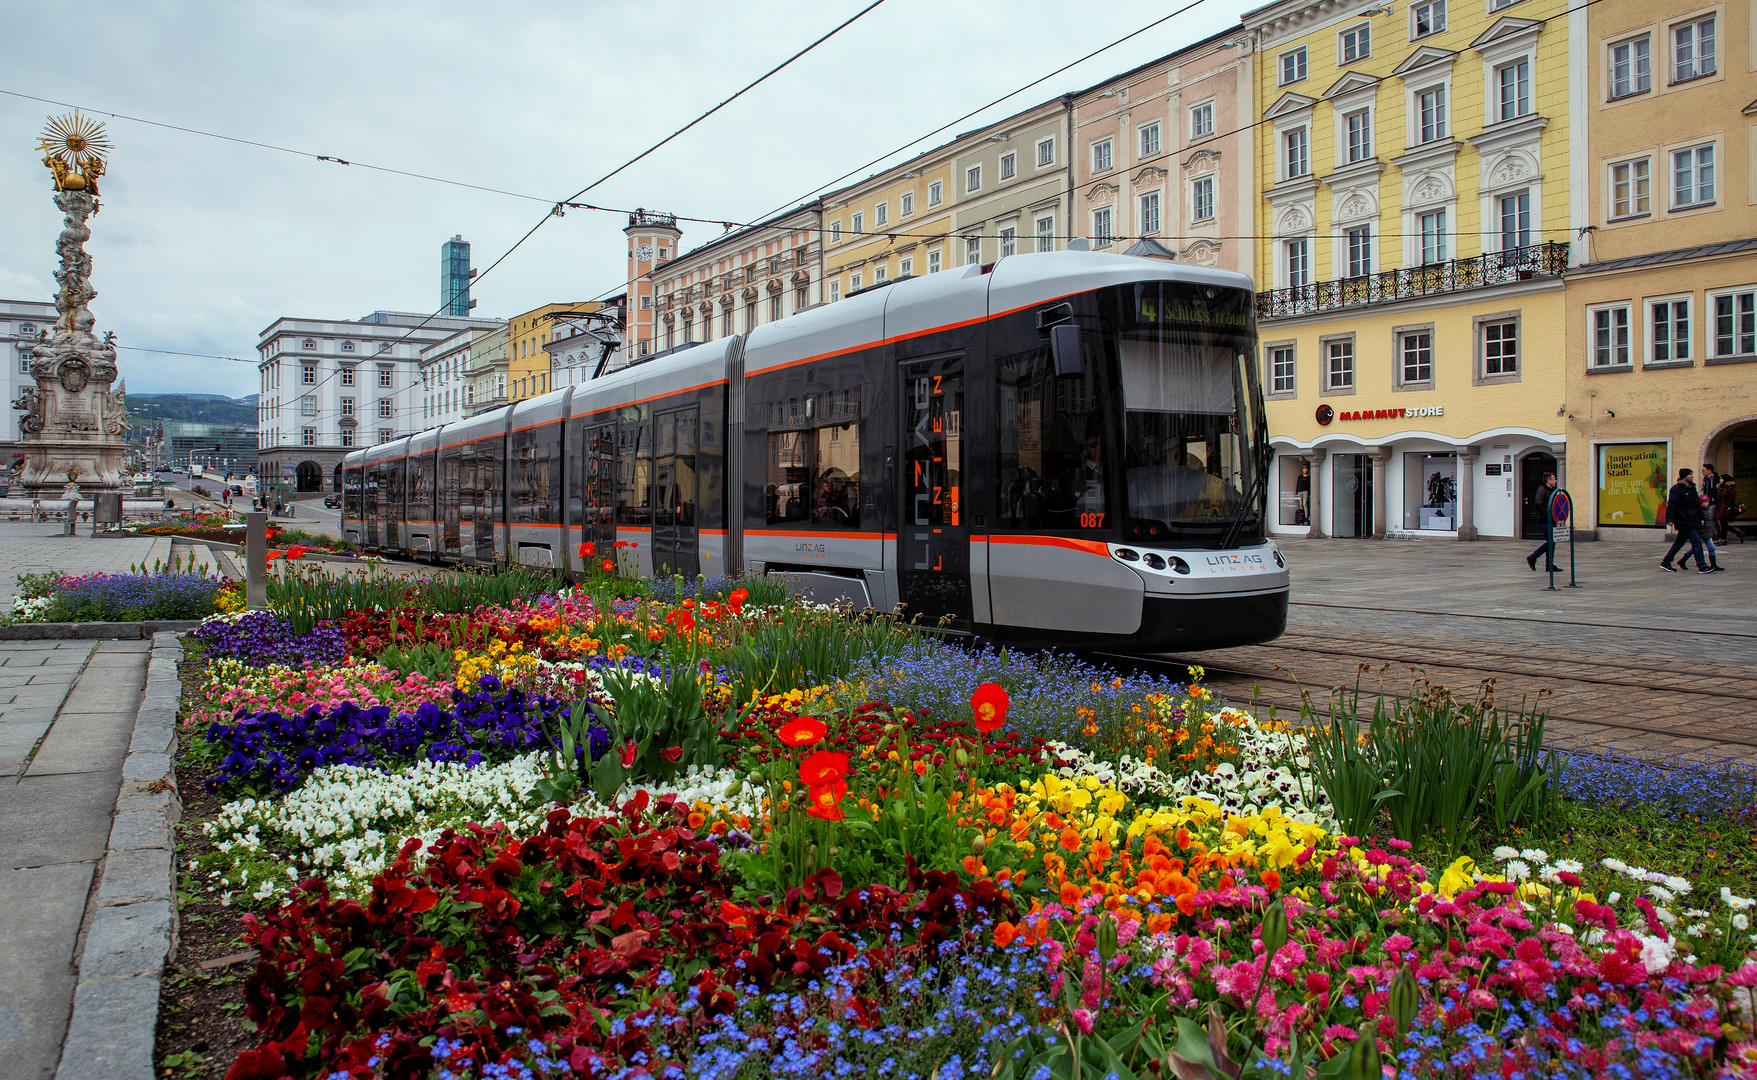
[[[255, 393], [257, 339], [276, 318], [432, 313], [441, 242], [462, 234], [487, 270], [553, 202], [870, 2], [90, 0], [69, 19], [65, 5], [0, 0], [0, 91], [11, 91], [0, 93], [0, 299], [53, 297], [61, 218], [35, 146], [51, 114], [79, 105], [114, 142], [86, 249], [97, 330], [135, 346], [119, 360], [128, 390]], [[884, 0], [583, 200], [754, 221], [845, 172], [859, 179], [1218, 33], [1256, 5], [1197, 0], [921, 140], [1188, 2]], [[548, 220], [476, 284], [476, 314], [617, 290], [625, 225], [596, 211]], [[717, 235], [719, 225], [687, 225], [683, 249]]]

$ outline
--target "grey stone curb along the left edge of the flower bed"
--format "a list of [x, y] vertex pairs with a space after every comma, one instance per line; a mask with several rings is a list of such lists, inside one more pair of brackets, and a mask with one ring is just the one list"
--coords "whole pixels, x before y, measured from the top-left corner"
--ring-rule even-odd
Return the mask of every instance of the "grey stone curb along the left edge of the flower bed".
[[[109, 623], [151, 625], [151, 623]], [[172, 825], [183, 817], [172, 774], [183, 643], [151, 634], [146, 690], [121, 766], [121, 792], [104, 852], [91, 929], [77, 964], [74, 1015], [56, 1080], [151, 1080], [158, 994], [177, 948]]]

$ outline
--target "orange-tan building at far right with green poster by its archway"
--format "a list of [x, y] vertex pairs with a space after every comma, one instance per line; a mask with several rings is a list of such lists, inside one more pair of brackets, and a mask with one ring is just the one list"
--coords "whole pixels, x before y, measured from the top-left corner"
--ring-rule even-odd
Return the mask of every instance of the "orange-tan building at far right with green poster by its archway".
[[1583, 14], [1567, 486], [1583, 532], [1659, 541], [1678, 469], [1731, 471], [1757, 508], [1752, 7], [1601, 0]]

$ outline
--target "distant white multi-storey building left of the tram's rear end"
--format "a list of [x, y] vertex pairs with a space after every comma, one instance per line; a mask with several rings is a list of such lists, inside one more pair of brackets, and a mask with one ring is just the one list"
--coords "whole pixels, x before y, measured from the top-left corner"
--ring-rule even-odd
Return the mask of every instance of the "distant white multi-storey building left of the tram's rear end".
[[355, 320], [274, 320], [260, 335], [258, 476], [300, 492], [339, 488], [341, 458], [430, 427], [422, 351], [503, 320], [374, 311]]

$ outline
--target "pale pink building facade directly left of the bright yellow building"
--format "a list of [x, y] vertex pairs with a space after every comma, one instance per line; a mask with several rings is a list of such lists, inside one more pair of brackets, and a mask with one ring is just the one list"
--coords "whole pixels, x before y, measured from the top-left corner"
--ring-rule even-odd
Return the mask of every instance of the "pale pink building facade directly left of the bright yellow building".
[[1179, 260], [1251, 274], [1254, 146], [1244, 26], [1074, 95], [1072, 228], [1095, 251], [1156, 239]]

